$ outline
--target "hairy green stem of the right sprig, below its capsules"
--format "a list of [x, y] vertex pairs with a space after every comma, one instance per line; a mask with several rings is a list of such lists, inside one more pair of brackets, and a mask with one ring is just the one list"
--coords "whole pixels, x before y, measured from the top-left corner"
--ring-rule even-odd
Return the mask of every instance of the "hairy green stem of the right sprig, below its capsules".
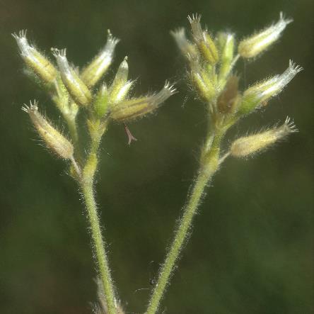
[[168, 285], [170, 275], [175, 266], [175, 262], [178, 259], [185, 240], [187, 239], [187, 234], [192, 225], [192, 220], [197, 211], [197, 207], [199, 206], [199, 201], [204, 195], [204, 189], [218, 168], [220, 141], [221, 135], [218, 135], [217, 137], [214, 136], [214, 140], [212, 140], [213, 145], [211, 145], [211, 148], [207, 150], [207, 148], [204, 147], [207, 150], [207, 162], [201, 167], [197, 179], [194, 181], [190, 199], [185, 206], [180, 224], [175, 232], [173, 243], [170, 246], [167, 256], [165, 257], [165, 262], [161, 267], [161, 271], [159, 273], [156, 286], [151, 295], [151, 300], [149, 302], [149, 307], [147, 308], [146, 314], [154, 314], [158, 310], [159, 303], [161, 302], [165, 288]]

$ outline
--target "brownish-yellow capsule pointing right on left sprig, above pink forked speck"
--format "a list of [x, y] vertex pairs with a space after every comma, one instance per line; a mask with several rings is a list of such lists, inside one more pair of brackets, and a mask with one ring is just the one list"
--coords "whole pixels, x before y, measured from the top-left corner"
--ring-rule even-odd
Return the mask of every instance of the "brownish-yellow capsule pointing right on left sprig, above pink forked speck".
[[157, 94], [136, 99], [129, 99], [112, 106], [110, 117], [119, 122], [145, 116], [158, 108], [170, 96], [175, 94], [173, 85], [165, 82], [165, 86]]

